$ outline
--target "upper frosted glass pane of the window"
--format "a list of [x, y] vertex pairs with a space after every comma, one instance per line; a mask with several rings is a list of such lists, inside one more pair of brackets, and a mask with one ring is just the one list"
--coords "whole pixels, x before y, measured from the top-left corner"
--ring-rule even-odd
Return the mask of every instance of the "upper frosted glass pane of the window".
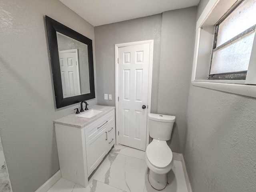
[[220, 25], [217, 47], [256, 24], [256, 0], [245, 0]]

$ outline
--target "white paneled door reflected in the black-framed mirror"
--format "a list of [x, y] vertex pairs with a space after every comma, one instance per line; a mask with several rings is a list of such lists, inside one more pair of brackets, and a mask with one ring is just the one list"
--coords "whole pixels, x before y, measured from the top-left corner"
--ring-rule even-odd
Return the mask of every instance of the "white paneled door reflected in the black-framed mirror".
[[60, 51], [59, 58], [63, 98], [80, 95], [77, 49]]

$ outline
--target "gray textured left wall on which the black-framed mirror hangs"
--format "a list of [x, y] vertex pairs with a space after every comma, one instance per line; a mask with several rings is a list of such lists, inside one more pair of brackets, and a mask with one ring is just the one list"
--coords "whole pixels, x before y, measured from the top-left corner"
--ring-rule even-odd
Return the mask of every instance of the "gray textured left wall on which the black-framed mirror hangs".
[[78, 107], [56, 110], [45, 15], [94, 42], [93, 26], [58, 0], [0, 0], [0, 135], [14, 192], [59, 170], [53, 120]]

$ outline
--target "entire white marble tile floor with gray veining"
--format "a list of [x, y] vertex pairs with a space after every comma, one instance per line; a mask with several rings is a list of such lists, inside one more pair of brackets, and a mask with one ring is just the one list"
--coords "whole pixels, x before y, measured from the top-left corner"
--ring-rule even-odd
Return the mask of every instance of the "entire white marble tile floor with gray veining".
[[[61, 178], [48, 192], [158, 192], [147, 176], [145, 152], [115, 146], [94, 172], [86, 188]], [[162, 192], [188, 192], [180, 161], [168, 173], [169, 185]]]

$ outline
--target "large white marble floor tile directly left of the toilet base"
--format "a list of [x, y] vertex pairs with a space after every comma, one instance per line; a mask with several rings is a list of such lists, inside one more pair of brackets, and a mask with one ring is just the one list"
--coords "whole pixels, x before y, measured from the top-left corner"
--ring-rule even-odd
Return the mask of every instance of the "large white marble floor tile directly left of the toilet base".
[[142, 192], [147, 169], [144, 160], [118, 154], [102, 182], [127, 192]]

